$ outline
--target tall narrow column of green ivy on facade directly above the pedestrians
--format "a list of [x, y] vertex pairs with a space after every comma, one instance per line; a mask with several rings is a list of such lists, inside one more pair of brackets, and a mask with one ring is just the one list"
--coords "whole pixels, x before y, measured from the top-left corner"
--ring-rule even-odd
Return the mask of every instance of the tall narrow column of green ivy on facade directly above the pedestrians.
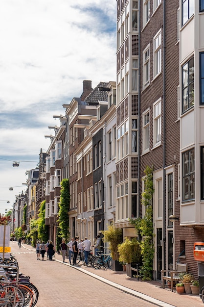
[[[69, 210], [69, 180], [62, 179], [61, 182], [61, 194], [60, 194], [60, 202], [59, 202], [59, 231], [57, 236], [57, 244], [58, 239], [65, 238], [65, 241], [68, 241], [69, 237], [69, 219], [68, 219], [68, 210]], [[61, 241], [61, 240], [60, 240]]]

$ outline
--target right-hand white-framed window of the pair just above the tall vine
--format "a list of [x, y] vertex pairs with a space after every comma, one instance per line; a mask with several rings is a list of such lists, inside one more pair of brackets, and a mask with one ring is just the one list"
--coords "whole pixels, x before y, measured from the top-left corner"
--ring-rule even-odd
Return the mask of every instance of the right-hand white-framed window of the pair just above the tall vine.
[[154, 145], [161, 142], [161, 101], [154, 104]]

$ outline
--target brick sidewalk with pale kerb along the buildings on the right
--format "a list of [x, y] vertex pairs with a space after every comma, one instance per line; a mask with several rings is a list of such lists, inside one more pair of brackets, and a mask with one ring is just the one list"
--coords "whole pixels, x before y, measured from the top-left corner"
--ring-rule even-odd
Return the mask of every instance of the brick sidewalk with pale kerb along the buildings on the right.
[[[27, 249], [34, 249], [30, 245], [23, 244], [23, 246]], [[45, 254], [46, 255], [46, 254]], [[55, 253], [54, 259], [63, 263], [62, 256]], [[69, 266], [68, 258], [64, 265]], [[96, 270], [94, 268], [86, 267], [80, 265], [79, 267], [73, 267], [73, 270], [80, 270], [85, 274], [89, 274], [93, 278], [97, 278], [103, 282], [111, 284], [112, 286], [119, 288], [125, 292], [136, 295], [144, 300], [148, 300], [150, 302], [154, 302], [155, 300], [159, 300], [158, 306], [176, 306], [176, 307], [200, 307], [204, 306], [202, 300], [199, 296], [187, 295], [187, 294], [178, 294], [176, 291], [172, 292], [169, 289], [162, 289], [161, 282], [159, 281], [137, 281], [135, 278], [130, 278], [127, 276], [126, 272], [117, 271], [114, 272], [112, 270]], [[125, 287], [125, 288], [124, 288]], [[132, 291], [133, 290], [133, 291]], [[163, 302], [163, 304], [162, 304]], [[166, 303], [166, 304], [165, 304]]]

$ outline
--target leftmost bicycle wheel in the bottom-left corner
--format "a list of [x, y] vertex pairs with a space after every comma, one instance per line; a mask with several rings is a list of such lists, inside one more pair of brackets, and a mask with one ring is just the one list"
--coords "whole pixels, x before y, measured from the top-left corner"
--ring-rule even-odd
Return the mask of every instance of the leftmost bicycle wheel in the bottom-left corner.
[[7, 306], [9, 307], [23, 307], [24, 295], [20, 287], [16, 285], [3, 285], [5, 297], [9, 299]]

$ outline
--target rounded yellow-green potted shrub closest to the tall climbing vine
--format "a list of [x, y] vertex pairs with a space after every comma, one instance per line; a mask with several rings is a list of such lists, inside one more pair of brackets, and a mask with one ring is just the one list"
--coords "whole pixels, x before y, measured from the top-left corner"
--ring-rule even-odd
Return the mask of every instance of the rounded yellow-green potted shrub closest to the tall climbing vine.
[[[133, 277], [135, 272], [132, 268], [137, 268], [138, 263], [141, 262], [141, 250], [139, 242], [134, 238], [130, 240], [125, 237], [125, 241], [118, 245], [119, 261], [126, 263], [126, 273]], [[138, 272], [137, 272], [138, 274]]]

